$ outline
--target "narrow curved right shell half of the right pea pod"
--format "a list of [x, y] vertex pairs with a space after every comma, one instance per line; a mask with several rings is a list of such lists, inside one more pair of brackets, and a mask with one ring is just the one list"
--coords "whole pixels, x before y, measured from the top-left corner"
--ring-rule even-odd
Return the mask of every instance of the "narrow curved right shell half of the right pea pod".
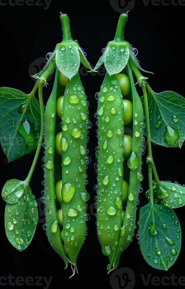
[[143, 124], [143, 108], [140, 97], [138, 96], [137, 90], [135, 88], [132, 70], [129, 64], [128, 72], [130, 76], [133, 99], [132, 154], [128, 160], [127, 168], [128, 170], [130, 170], [127, 208], [125, 211], [123, 226], [121, 228], [117, 251], [114, 257], [114, 268], [119, 262], [120, 254], [128, 247], [134, 234], [136, 219], [136, 201], [139, 195], [140, 182], [143, 179], [143, 176], [141, 174], [141, 147], [143, 145], [143, 129], [141, 127], [141, 124]]

